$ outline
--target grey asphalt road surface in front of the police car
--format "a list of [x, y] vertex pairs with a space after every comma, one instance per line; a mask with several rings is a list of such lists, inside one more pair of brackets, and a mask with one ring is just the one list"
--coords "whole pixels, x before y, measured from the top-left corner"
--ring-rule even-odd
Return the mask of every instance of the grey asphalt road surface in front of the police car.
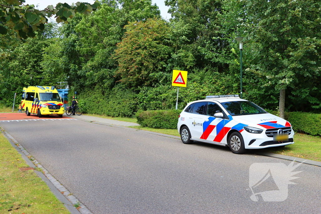
[[[263, 172], [268, 164], [259, 164], [262, 167], [254, 171], [251, 165], [288, 166], [291, 161], [236, 155], [221, 146], [185, 145], [174, 138], [80, 120], [1, 121], [0, 125], [94, 214], [320, 214], [320, 167], [300, 165], [293, 170], [302, 171], [293, 175], [299, 177], [292, 180], [296, 184], [289, 185], [283, 185], [288, 181], [286, 167], [281, 174], [272, 167], [274, 183], [269, 177], [259, 192], [277, 189], [284, 196], [282, 184], [288, 189], [286, 200], [259, 197], [255, 202], [250, 199], [249, 176]], [[258, 188], [254, 190], [257, 193]]]

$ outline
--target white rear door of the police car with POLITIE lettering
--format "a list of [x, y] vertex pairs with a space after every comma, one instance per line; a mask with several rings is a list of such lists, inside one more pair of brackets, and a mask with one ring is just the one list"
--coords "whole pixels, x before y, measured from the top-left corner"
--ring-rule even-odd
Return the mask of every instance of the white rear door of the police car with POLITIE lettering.
[[203, 124], [208, 121], [208, 116], [205, 115], [207, 102], [194, 103], [191, 117], [188, 125], [189, 131], [193, 138], [201, 138], [203, 134]]

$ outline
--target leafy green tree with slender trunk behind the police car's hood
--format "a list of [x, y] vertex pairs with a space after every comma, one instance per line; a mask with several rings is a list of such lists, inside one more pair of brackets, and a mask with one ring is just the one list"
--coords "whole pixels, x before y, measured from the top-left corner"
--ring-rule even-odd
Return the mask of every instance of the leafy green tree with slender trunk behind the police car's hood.
[[251, 50], [247, 54], [247, 71], [256, 80], [249, 83], [259, 81], [261, 87], [279, 90], [280, 116], [284, 118], [286, 90], [291, 89], [294, 95], [309, 87], [297, 88], [302, 78], [320, 76], [321, 2], [247, 0], [243, 4], [247, 13], [240, 18], [253, 29], [247, 35], [247, 48]]

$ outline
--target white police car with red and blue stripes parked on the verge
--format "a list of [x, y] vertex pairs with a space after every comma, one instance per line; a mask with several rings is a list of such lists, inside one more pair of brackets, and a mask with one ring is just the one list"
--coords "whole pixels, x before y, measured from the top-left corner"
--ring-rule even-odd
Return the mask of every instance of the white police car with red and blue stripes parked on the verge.
[[288, 121], [239, 95], [206, 96], [188, 103], [178, 117], [177, 129], [185, 144], [200, 141], [229, 146], [236, 154], [294, 143]]

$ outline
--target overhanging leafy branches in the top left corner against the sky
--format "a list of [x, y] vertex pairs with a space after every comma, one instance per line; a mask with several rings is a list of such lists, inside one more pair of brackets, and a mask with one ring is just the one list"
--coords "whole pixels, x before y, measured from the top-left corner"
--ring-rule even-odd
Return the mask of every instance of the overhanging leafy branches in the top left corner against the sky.
[[34, 5], [24, 4], [24, 0], [0, 0], [0, 58], [10, 56], [10, 49], [17, 46], [19, 39], [33, 38], [37, 30], [44, 30], [47, 17], [56, 15], [56, 21], [68, 22], [75, 13], [90, 14], [99, 8], [94, 4], [77, 2], [74, 6], [58, 3], [56, 7], [48, 5], [44, 10], [37, 10]]

